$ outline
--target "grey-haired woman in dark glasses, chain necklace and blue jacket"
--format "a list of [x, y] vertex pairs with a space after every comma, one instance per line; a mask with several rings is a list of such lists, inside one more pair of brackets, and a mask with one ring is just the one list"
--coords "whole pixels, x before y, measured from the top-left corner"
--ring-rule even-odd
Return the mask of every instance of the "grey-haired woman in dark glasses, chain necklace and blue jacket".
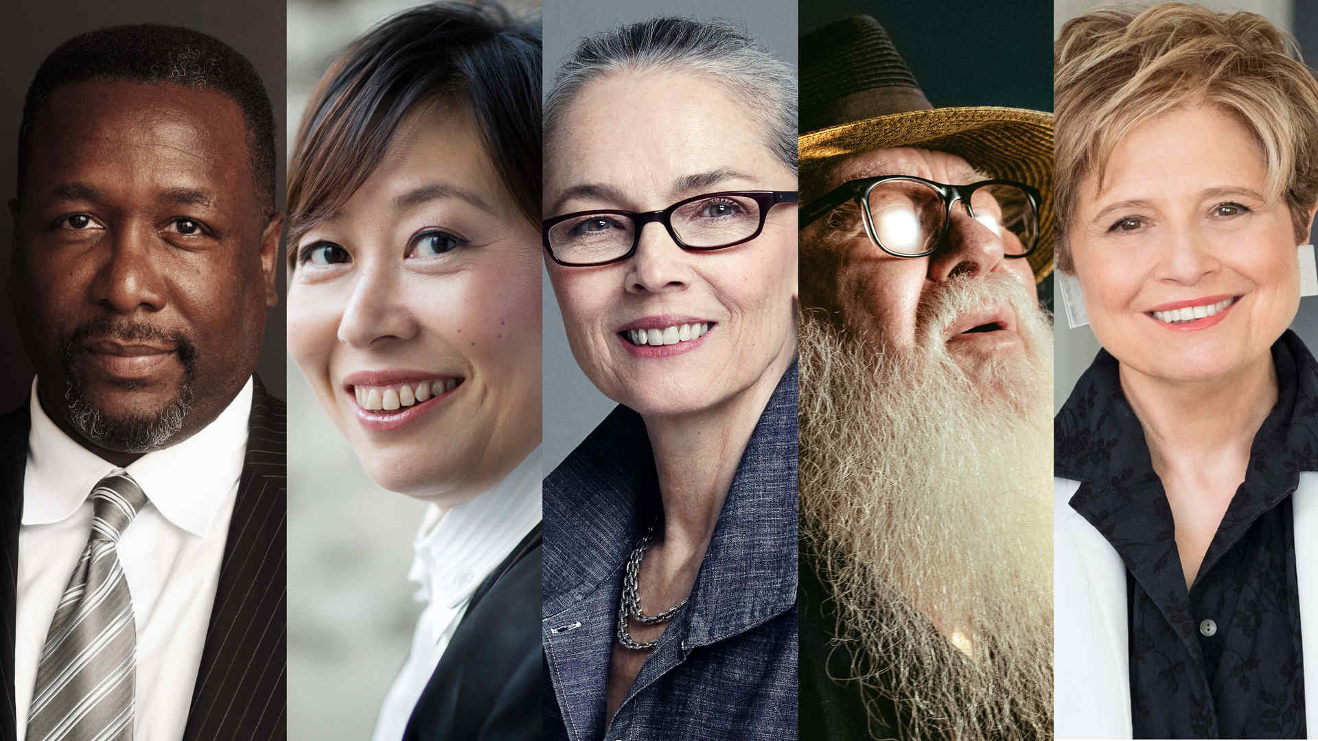
[[581, 42], [544, 248], [619, 402], [544, 483], [548, 738], [796, 734], [796, 78], [721, 24]]

